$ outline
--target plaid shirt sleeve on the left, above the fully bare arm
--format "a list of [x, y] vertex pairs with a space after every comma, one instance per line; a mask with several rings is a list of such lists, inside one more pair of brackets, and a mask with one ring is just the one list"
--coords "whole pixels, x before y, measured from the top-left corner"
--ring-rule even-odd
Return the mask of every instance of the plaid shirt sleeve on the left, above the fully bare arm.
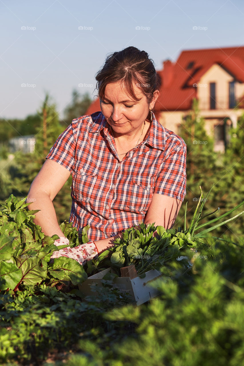
[[55, 144], [51, 147], [46, 159], [51, 159], [69, 169], [74, 164], [76, 141], [73, 133], [72, 123], [59, 135]]

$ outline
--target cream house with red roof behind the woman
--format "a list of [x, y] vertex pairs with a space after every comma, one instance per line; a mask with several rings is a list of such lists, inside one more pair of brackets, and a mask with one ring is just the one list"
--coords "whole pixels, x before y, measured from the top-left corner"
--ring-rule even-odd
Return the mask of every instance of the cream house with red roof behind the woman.
[[[157, 72], [161, 85], [154, 113], [159, 123], [179, 134], [197, 98], [206, 132], [214, 137], [214, 149], [224, 152], [229, 128], [237, 126], [244, 112], [244, 47], [182, 51], [177, 61], [163, 61]], [[86, 114], [100, 110], [96, 99]]]

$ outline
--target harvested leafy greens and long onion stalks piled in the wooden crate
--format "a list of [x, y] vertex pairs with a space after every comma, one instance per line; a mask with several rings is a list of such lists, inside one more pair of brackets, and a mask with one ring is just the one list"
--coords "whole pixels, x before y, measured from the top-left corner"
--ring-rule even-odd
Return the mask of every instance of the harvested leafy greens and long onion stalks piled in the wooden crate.
[[[213, 186], [212, 186], [213, 187]], [[211, 189], [212, 189], [211, 187]], [[208, 192], [206, 198], [211, 192]], [[148, 224], [147, 226], [143, 223], [138, 225], [138, 228], [129, 228], [123, 233], [123, 238], [117, 238], [114, 243], [115, 246], [104, 251], [99, 255], [97, 259], [92, 259], [85, 265], [86, 272], [88, 274], [97, 273], [100, 270], [111, 267], [115, 270], [117, 276], [120, 276], [119, 268], [134, 264], [137, 270], [137, 275], [145, 277], [145, 272], [150, 269], [160, 269], [163, 266], [168, 266], [169, 262], [177, 260], [178, 257], [188, 256], [192, 258], [193, 253], [189, 249], [198, 250], [203, 246], [203, 243], [207, 245], [206, 238], [208, 232], [215, 228], [224, 225], [225, 223], [236, 219], [244, 213], [237, 214], [231, 219], [221, 221], [223, 217], [228, 216], [234, 210], [238, 209], [243, 205], [244, 201], [238, 206], [231, 209], [229, 212], [222, 214], [215, 219], [208, 221], [207, 223], [199, 224], [199, 221], [212, 215], [215, 210], [209, 214], [202, 215], [202, 210], [206, 199], [203, 197], [202, 188], [200, 187], [201, 195], [198, 200], [197, 207], [192, 217], [191, 224], [186, 229], [186, 208], [184, 216], [184, 231], [181, 228], [167, 229], [165, 230], [162, 226], [154, 227], [154, 224]], [[216, 221], [220, 223], [211, 226]], [[197, 234], [196, 231], [208, 226]], [[157, 237], [153, 236], [153, 233], [157, 232]], [[215, 237], [214, 237], [215, 238]], [[205, 239], [205, 240], [204, 240]], [[220, 239], [223, 240], [223, 239]], [[226, 241], [226, 240], [225, 240]], [[185, 270], [188, 269], [188, 261], [180, 261]]]

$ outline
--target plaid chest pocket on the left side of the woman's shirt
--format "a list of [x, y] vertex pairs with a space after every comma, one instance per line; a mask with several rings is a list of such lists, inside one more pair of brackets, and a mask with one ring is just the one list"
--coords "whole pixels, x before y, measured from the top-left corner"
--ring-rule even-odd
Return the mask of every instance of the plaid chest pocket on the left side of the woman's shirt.
[[74, 198], [80, 202], [89, 203], [96, 199], [99, 183], [99, 169], [93, 163], [84, 164], [76, 161], [72, 174], [72, 192]]

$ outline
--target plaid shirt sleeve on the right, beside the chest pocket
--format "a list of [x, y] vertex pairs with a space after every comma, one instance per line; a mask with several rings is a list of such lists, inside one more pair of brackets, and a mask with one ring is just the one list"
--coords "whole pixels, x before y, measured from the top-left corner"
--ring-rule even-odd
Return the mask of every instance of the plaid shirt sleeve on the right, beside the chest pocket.
[[154, 193], [184, 201], [186, 195], [186, 145], [176, 147], [165, 158], [158, 173]]

